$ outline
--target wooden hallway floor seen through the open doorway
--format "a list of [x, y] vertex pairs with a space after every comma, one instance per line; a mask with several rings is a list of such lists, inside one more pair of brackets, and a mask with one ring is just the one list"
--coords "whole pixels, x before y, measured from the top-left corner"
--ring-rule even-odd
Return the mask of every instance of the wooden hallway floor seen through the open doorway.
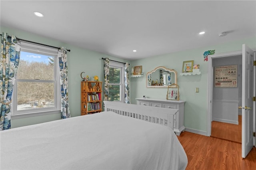
[[242, 116], [238, 115], [238, 125], [212, 121], [211, 136], [242, 143]]

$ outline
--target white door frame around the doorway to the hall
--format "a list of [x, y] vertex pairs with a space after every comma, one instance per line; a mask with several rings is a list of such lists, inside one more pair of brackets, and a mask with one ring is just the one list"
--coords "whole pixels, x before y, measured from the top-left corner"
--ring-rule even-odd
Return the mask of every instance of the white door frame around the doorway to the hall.
[[212, 133], [212, 91], [213, 91], [213, 66], [212, 59], [221, 58], [221, 57], [233, 57], [241, 55], [241, 51], [232, 51], [227, 53], [219, 53], [208, 55], [208, 90], [207, 90], [207, 136], [210, 136]]

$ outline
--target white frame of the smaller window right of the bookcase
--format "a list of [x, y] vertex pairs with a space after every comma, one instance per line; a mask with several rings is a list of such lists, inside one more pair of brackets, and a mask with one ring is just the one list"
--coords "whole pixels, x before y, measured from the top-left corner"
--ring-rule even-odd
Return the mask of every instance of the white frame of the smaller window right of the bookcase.
[[115, 61], [109, 61], [109, 68], [110, 67], [120, 69], [120, 83], [109, 83], [109, 85], [120, 85], [120, 101], [115, 102], [124, 103], [124, 64]]

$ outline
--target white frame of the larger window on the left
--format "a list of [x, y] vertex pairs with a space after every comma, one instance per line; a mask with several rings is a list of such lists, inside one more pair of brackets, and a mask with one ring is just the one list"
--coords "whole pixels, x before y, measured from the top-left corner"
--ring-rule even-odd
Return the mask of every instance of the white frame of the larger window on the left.
[[25, 110], [17, 110], [17, 84], [18, 82], [26, 82], [24, 79], [15, 79], [14, 81], [14, 89], [12, 93], [12, 119], [18, 119], [23, 117], [31, 117], [38, 115], [48, 115], [60, 113], [60, 102], [61, 102], [61, 94], [60, 94], [60, 73], [58, 66], [58, 49], [54, 49], [51, 47], [46, 47], [42, 45], [37, 45], [34, 43], [21, 42], [21, 51], [26, 52], [34, 52], [42, 55], [50, 55], [54, 56], [54, 80], [30, 80], [30, 82], [42, 82], [42, 83], [54, 83], [54, 107], [48, 108], [39, 108], [39, 109], [25, 109]]

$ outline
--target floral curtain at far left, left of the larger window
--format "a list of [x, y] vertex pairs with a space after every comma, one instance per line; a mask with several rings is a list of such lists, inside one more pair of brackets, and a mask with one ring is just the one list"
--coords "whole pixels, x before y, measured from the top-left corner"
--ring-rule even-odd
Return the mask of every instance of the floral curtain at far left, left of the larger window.
[[2, 33], [0, 58], [0, 130], [11, 128], [12, 91], [20, 61], [20, 42]]

